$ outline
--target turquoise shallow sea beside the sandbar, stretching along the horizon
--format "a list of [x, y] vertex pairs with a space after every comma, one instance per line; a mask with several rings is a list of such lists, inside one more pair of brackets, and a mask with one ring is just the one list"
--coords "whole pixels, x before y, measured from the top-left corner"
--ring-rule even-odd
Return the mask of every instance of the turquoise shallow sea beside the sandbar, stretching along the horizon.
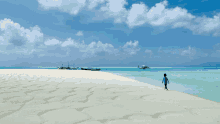
[[[170, 81], [168, 89], [196, 95], [201, 98], [220, 102], [220, 68], [216, 67], [97, 67], [101, 71], [129, 77], [144, 83], [164, 87], [163, 74]], [[57, 69], [56, 67], [0, 67], [0, 69]], [[71, 70], [70, 70], [71, 71]], [[155, 81], [147, 82], [151, 78]]]

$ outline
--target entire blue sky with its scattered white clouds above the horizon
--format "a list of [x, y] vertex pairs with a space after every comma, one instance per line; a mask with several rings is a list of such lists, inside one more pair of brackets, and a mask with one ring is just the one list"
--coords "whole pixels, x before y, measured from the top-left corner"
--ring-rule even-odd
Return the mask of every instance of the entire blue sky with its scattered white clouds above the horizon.
[[0, 0], [1, 66], [215, 66], [220, 2]]

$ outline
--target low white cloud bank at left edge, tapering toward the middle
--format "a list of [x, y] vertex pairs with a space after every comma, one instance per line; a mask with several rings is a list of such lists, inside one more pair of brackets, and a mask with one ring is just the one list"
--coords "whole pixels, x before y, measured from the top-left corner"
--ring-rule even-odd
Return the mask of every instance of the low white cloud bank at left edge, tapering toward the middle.
[[[70, 54], [81, 58], [82, 56], [96, 56], [99, 53], [114, 55], [119, 52], [112, 44], [102, 43], [101, 41], [85, 44], [84, 41], [79, 42], [71, 38], [64, 41], [56, 38], [44, 40], [43, 33], [41, 33], [41, 29], [38, 26], [27, 29], [10, 19], [0, 20], [0, 26], [1, 55], [13, 54], [14, 58], [21, 55], [65, 57]], [[82, 35], [82, 32], [77, 34]]]

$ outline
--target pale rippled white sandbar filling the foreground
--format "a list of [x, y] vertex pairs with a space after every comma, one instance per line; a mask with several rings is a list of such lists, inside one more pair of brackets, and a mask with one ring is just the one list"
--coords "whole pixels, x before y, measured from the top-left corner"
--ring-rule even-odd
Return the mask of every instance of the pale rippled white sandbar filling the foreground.
[[107, 72], [0, 69], [0, 124], [180, 123], [220, 124], [220, 103]]

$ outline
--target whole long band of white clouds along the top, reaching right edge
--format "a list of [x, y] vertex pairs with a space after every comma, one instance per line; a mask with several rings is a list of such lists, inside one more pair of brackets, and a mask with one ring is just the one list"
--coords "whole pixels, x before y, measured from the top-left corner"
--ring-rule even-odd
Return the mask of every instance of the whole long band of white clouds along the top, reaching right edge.
[[[147, 4], [135, 3], [126, 9], [127, 0], [38, 0], [44, 9], [59, 9], [77, 15], [80, 10], [95, 12], [92, 20], [113, 18], [114, 23], [126, 23], [130, 28], [151, 25], [153, 27], [187, 28], [194, 34], [220, 36], [220, 14], [213, 18], [194, 16], [185, 8], [168, 8], [164, 0], [149, 8]], [[95, 9], [97, 6], [99, 8]], [[93, 22], [93, 21], [88, 21]]]

